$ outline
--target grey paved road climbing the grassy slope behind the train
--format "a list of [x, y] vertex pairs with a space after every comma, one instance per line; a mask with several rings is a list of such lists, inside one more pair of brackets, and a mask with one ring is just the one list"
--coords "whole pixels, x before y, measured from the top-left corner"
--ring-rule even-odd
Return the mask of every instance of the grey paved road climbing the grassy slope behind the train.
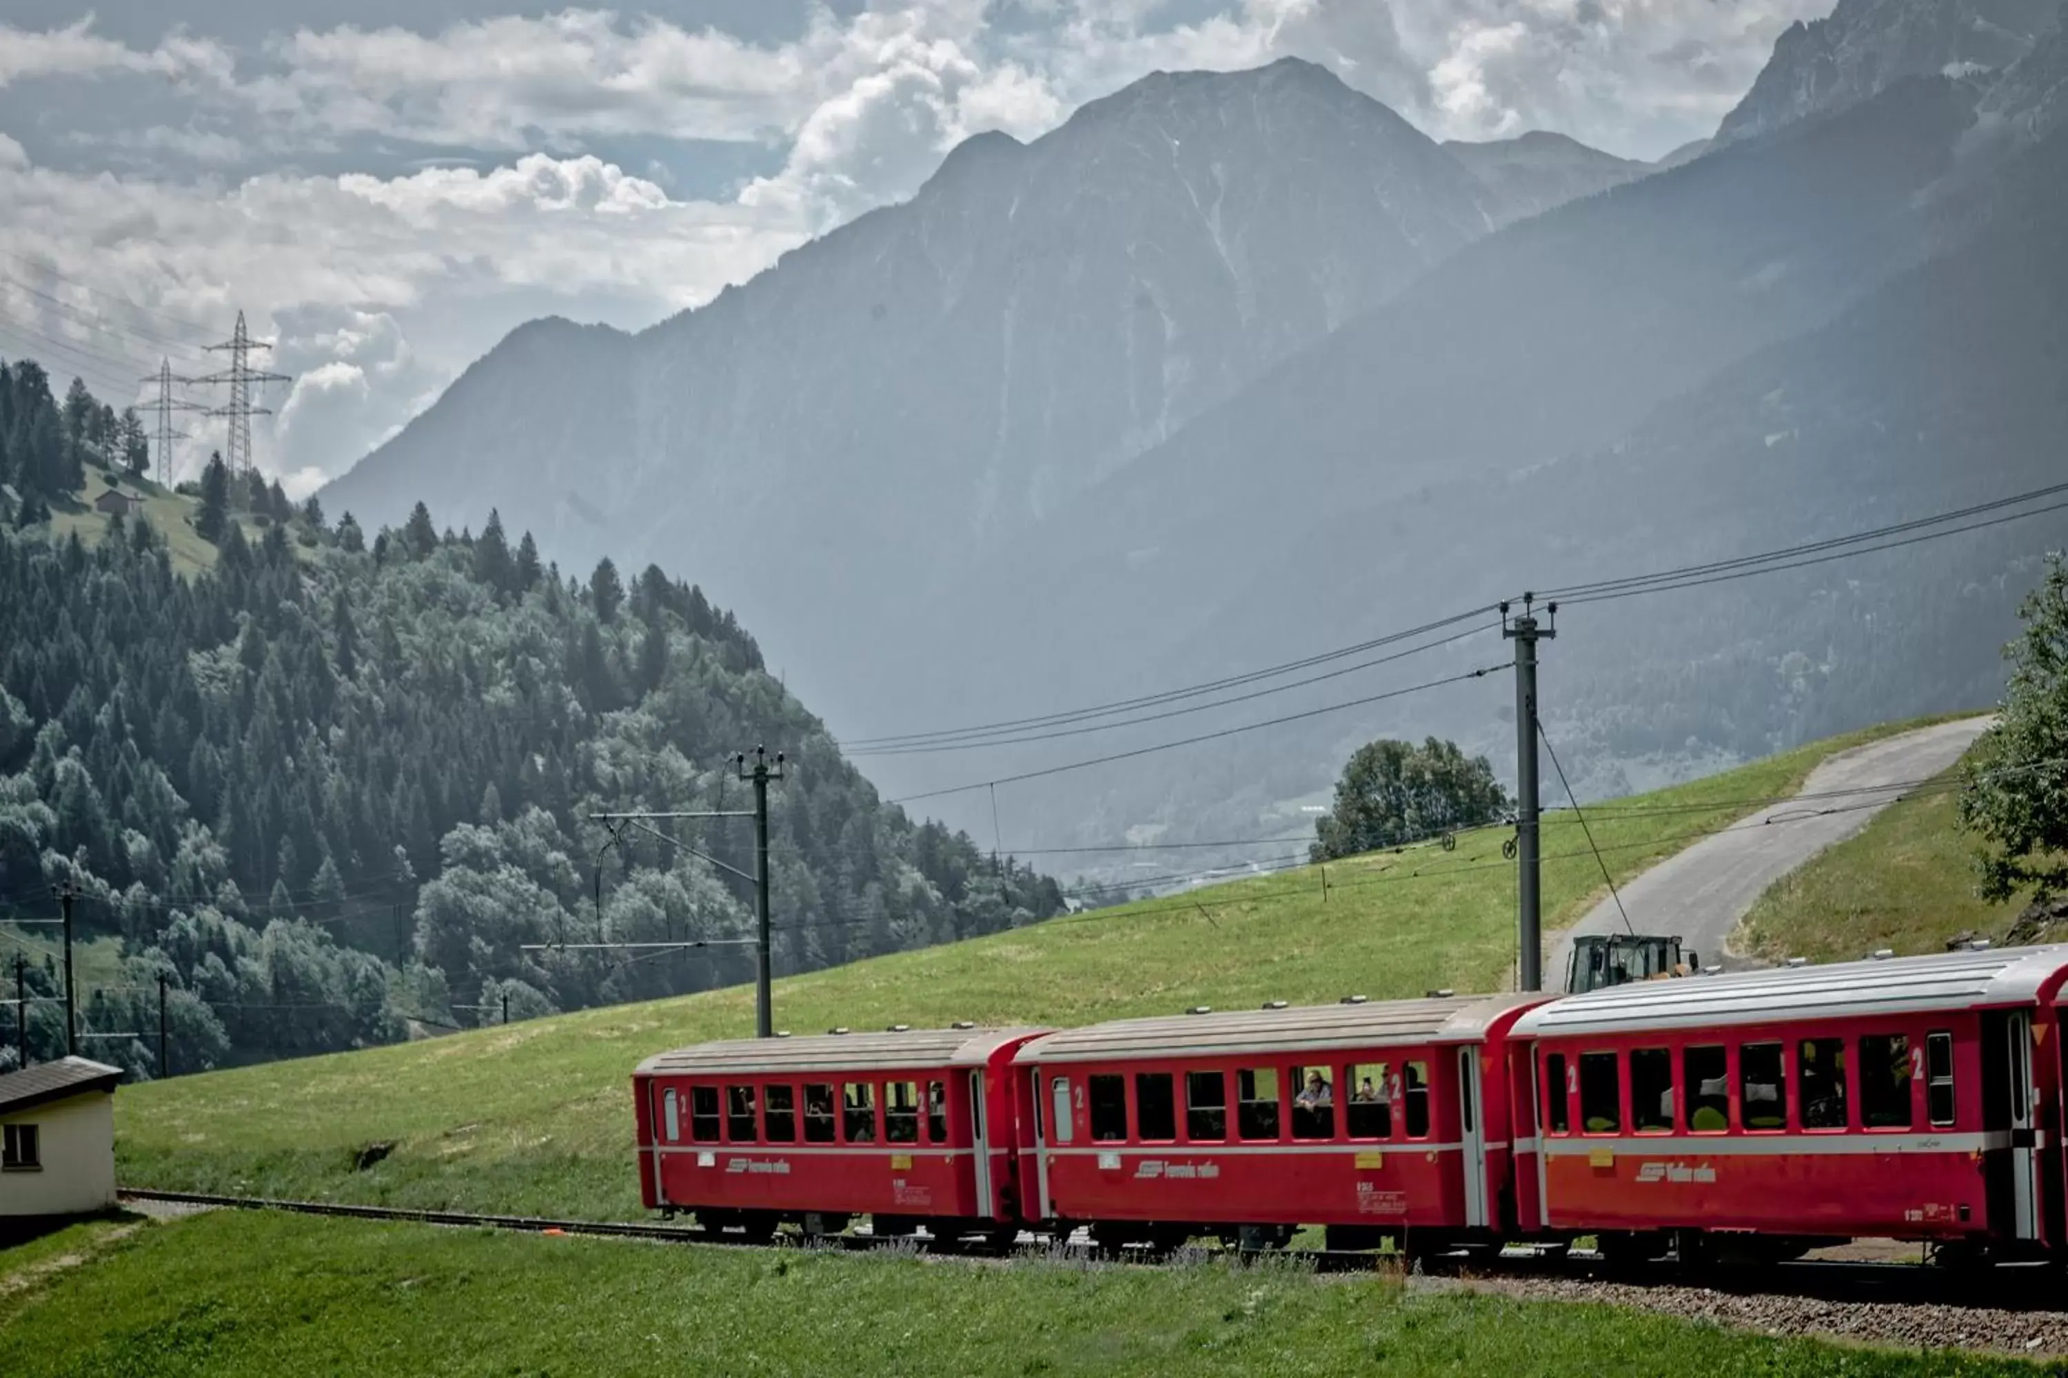
[[[1623, 909], [1630, 911], [1632, 926], [1640, 934], [1679, 934], [1704, 965], [1723, 961], [1731, 930], [1766, 886], [1832, 843], [1865, 828], [1876, 814], [1894, 804], [1905, 785], [1929, 779], [1956, 762], [1987, 725], [1987, 717], [1969, 717], [1838, 752], [1810, 773], [1803, 797], [1766, 808], [1733, 824], [1731, 833], [1704, 837], [1625, 884]], [[1863, 793], [1814, 797], [1843, 789]], [[1805, 810], [1820, 808], [1845, 812], [1803, 816]], [[1766, 820], [1776, 822], [1752, 826]], [[1623, 917], [1615, 911], [1615, 901], [1605, 899], [1578, 923], [1553, 934], [1545, 985], [1563, 990], [1574, 934], [1611, 932], [1623, 932]]]

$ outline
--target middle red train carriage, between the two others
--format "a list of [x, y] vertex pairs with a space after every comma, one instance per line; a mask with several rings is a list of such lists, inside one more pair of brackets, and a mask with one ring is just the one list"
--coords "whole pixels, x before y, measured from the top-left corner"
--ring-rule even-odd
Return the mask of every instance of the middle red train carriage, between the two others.
[[[1022, 1178], [1053, 1229], [1332, 1246], [1512, 1223], [1501, 1041], [1549, 996], [1129, 1019], [1020, 1047]], [[1028, 1169], [1032, 1163], [1032, 1169]]]

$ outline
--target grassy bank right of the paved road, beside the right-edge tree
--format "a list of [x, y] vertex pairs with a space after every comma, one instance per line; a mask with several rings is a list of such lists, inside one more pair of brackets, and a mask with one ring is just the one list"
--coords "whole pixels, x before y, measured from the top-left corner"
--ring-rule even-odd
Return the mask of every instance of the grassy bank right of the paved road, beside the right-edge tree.
[[1975, 897], [1975, 841], [1960, 831], [1950, 789], [1890, 804], [1874, 822], [1778, 880], [1745, 915], [1743, 946], [1760, 957], [1855, 959], [1876, 948], [1940, 952], [1954, 934], [1996, 942], [2023, 903]]

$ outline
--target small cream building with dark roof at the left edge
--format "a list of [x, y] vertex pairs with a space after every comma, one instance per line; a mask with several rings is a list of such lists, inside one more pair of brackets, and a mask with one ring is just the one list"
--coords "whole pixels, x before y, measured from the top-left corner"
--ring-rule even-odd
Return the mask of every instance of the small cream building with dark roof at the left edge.
[[89, 1215], [116, 1204], [122, 1068], [58, 1058], [0, 1076], [0, 1217]]

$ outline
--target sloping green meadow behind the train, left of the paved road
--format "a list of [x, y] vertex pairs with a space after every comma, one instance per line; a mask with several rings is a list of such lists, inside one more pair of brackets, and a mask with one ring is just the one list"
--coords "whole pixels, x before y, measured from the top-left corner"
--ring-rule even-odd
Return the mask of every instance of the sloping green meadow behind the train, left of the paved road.
[[[1805, 746], [1648, 795], [1687, 812], [1594, 820], [1623, 878], [1793, 791], [1834, 750]], [[1512, 983], [1514, 866], [1501, 833], [1144, 901], [780, 981], [776, 1025], [817, 1033], [887, 1023], [1088, 1023], [1344, 994], [1421, 996]], [[1601, 872], [1572, 816], [1545, 824], [1545, 911], [1572, 921]], [[639, 1215], [631, 1068], [753, 1031], [749, 988], [583, 1010], [358, 1054], [124, 1087], [124, 1184], [161, 1190], [449, 1207], [560, 1217]], [[366, 1171], [358, 1149], [393, 1142]]]

